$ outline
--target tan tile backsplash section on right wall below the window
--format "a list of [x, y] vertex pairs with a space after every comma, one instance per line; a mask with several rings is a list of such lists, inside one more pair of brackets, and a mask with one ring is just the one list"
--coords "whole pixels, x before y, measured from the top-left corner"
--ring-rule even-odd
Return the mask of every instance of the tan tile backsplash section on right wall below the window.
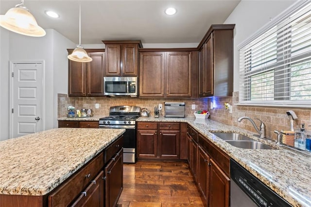
[[[311, 131], [311, 109], [310, 108], [286, 108], [286, 107], [264, 107], [264, 106], [241, 106], [235, 105], [239, 102], [239, 92], [233, 92], [232, 97], [215, 97], [207, 101], [210, 119], [228, 125], [234, 125], [257, 134], [254, 126], [248, 120], [238, 122], [240, 117], [246, 116], [254, 120], [258, 118], [266, 125], [267, 136], [276, 139], [274, 130], [290, 130], [290, 120], [286, 111], [293, 110], [298, 119], [294, 120], [294, 128], [300, 128], [305, 123], [306, 129]], [[210, 102], [214, 102], [215, 109], [210, 109]], [[232, 105], [232, 113], [225, 109], [225, 103]], [[259, 121], [254, 120], [259, 126]]]

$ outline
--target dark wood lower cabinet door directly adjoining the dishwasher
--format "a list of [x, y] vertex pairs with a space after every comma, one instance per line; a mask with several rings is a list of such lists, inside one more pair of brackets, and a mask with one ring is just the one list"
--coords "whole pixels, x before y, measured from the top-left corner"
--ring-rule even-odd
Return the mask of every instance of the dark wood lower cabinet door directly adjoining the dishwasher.
[[229, 207], [230, 179], [210, 159], [209, 207]]

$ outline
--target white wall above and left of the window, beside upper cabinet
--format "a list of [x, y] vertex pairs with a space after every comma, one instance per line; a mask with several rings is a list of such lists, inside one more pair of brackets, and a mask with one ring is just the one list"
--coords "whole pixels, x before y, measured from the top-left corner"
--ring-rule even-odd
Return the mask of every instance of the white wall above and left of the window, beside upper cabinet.
[[254, 34], [271, 18], [292, 5], [295, 0], [242, 0], [224, 24], [236, 24], [234, 29], [233, 91], [239, 91], [239, 51], [237, 46]]

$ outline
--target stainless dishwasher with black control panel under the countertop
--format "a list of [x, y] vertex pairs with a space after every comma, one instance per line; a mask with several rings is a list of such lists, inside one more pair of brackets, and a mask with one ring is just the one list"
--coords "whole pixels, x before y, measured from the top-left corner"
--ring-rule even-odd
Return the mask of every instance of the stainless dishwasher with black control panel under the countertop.
[[292, 207], [233, 159], [230, 176], [230, 207]]

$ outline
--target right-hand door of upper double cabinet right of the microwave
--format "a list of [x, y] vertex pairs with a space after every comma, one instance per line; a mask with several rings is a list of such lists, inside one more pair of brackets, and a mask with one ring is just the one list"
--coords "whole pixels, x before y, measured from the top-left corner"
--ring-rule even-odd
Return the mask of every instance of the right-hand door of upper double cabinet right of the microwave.
[[167, 97], [191, 96], [191, 52], [167, 52]]

